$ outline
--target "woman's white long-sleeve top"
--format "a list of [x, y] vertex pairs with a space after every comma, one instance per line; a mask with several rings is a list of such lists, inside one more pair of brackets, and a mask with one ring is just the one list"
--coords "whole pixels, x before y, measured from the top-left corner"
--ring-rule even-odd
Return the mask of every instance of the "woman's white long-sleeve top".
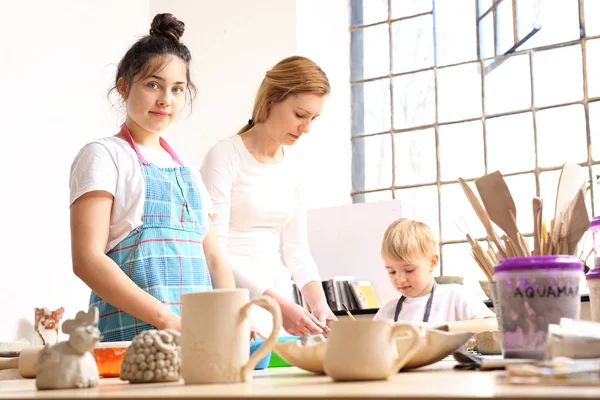
[[320, 281], [306, 236], [304, 168], [288, 150], [281, 162], [263, 164], [235, 135], [212, 147], [200, 170], [219, 244], [252, 298], [268, 288], [287, 297], [291, 277], [299, 288]]

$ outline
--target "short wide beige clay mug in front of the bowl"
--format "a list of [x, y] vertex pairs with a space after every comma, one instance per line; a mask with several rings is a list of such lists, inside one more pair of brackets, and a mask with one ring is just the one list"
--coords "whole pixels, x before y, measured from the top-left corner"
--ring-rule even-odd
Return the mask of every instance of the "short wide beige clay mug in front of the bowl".
[[[410, 341], [399, 354], [396, 341]], [[391, 321], [340, 320], [331, 322], [325, 349], [325, 373], [337, 381], [387, 379], [419, 350], [419, 328]]]

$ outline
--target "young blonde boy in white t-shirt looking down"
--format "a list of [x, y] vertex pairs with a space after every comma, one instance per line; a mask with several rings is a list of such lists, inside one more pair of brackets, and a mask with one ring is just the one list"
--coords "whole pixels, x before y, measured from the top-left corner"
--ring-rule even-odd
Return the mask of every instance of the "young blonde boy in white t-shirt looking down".
[[383, 235], [381, 258], [390, 283], [402, 295], [379, 309], [374, 319], [446, 325], [450, 331], [497, 330], [496, 316], [462, 285], [437, 285], [437, 240], [426, 224], [401, 218]]

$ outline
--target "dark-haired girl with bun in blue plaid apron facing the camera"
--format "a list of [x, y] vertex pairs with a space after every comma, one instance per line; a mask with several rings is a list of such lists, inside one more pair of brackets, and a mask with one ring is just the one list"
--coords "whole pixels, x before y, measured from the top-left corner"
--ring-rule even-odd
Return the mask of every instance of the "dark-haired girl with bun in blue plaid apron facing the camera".
[[161, 138], [195, 94], [183, 32], [171, 14], [154, 17], [117, 69], [125, 123], [71, 167], [73, 270], [92, 289], [104, 341], [179, 330], [182, 293], [235, 287], [202, 180]]

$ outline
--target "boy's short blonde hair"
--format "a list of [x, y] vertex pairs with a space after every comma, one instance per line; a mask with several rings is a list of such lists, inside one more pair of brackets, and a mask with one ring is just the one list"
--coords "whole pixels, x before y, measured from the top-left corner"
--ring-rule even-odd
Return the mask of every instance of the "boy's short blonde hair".
[[410, 262], [414, 257], [436, 254], [437, 239], [424, 222], [400, 218], [383, 234], [381, 255], [399, 262]]

